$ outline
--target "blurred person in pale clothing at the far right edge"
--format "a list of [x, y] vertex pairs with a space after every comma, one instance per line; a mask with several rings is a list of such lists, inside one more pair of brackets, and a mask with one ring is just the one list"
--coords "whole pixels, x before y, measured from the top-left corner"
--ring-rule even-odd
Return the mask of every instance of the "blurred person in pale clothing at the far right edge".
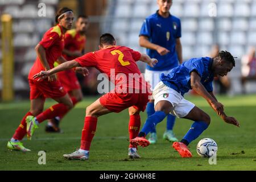
[[256, 56], [255, 47], [250, 47], [249, 53], [242, 56], [242, 93], [246, 93], [245, 84], [247, 81], [256, 80]]

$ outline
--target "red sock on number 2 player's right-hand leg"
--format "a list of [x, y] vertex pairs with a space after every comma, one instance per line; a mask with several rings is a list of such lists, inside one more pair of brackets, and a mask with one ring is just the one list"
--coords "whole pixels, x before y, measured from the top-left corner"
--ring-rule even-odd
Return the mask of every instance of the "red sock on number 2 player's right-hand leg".
[[[129, 122], [130, 140], [138, 136], [140, 127], [141, 127], [141, 117], [139, 116], [139, 114], [130, 115], [130, 122]], [[129, 148], [130, 147], [137, 148], [132, 146], [131, 144], [129, 145]]]

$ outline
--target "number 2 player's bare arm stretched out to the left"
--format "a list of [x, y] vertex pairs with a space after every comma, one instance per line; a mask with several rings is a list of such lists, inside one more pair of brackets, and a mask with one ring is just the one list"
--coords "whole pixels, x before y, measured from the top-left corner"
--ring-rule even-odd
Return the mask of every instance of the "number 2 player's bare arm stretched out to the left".
[[75, 68], [75, 67], [80, 67], [80, 64], [77, 63], [77, 61], [72, 60], [72, 61], [67, 61], [63, 64], [58, 65], [55, 68], [49, 69], [48, 71], [41, 71], [37, 73], [36, 75], [33, 76], [33, 78], [39, 78], [38, 81], [43, 80], [44, 78], [47, 78], [57, 72], [61, 72], [67, 69]]

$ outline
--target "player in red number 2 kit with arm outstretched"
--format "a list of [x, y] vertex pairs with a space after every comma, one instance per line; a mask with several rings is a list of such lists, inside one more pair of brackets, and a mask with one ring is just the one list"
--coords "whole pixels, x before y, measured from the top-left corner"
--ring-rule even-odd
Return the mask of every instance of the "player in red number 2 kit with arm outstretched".
[[[99, 48], [99, 51], [87, 53], [49, 71], [41, 71], [34, 75], [34, 78], [39, 77], [39, 80], [43, 80], [63, 70], [75, 67], [95, 67], [108, 75], [109, 80], [115, 84], [114, 90], [106, 93], [86, 108], [80, 149], [72, 154], [63, 155], [68, 159], [86, 160], [89, 158], [90, 144], [96, 131], [98, 117], [104, 114], [119, 113], [129, 108], [130, 140], [137, 137], [141, 126], [139, 112], [146, 108], [150, 95], [150, 85], [147, 85], [147, 82], [143, 79], [135, 61], [141, 60], [153, 67], [158, 63], [156, 59], [150, 59], [149, 56], [128, 47], [116, 46], [115, 39], [111, 34], [101, 35]], [[134, 79], [133, 76], [135, 75], [139, 78]], [[139, 82], [139, 84], [134, 84], [134, 81]], [[130, 144], [129, 156], [130, 158], [140, 158], [137, 154], [137, 145]]]

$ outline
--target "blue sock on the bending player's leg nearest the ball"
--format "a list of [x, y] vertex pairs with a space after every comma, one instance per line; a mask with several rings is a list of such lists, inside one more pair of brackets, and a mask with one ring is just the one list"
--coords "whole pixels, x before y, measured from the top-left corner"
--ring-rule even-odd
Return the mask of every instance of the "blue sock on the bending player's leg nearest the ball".
[[201, 135], [201, 133], [203, 133], [203, 131], [206, 130], [208, 126], [209, 125], [203, 121], [194, 122], [191, 125], [191, 128], [188, 130], [187, 134], [185, 134], [185, 137], [183, 137], [183, 139], [181, 140], [181, 142], [188, 145], [197, 137], [199, 137], [199, 135]]

